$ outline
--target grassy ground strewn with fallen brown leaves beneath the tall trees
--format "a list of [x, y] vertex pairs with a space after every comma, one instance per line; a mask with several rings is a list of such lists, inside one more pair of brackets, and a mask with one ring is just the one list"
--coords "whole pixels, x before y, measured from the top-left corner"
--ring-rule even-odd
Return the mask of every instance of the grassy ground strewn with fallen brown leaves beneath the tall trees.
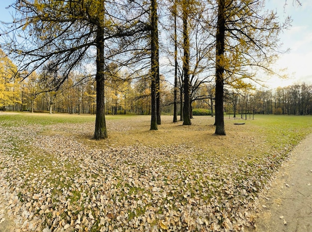
[[[260, 190], [293, 144], [277, 148], [267, 136], [245, 131], [232, 132], [242, 137], [236, 140], [208, 136], [211, 141], [201, 145], [200, 134], [214, 129], [207, 121], [201, 124], [207, 117], [185, 127], [164, 116], [159, 133], [148, 131], [146, 119], [108, 120], [115, 139], [98, 143], [87, 139], [94, 129], [90, 122], [1, 120], [0, 198], [13, 227], [43, 232], [252, 227]], [[143, 137], [136, 136], [138, 127], [145, 127]], [[192, 139], [171, 142], [178, 133]]]

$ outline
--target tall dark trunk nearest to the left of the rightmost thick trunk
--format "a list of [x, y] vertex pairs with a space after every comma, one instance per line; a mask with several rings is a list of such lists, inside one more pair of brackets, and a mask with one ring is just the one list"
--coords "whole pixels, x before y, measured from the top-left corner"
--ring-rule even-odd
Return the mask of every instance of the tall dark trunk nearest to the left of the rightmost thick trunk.
[[188, 0], [183, 0], [183, 74], [184, 74], [184, 105], [183, 125], [191, 125], [190, 119], [190, 86], [189, 86], [189, 38], [187, 28]]

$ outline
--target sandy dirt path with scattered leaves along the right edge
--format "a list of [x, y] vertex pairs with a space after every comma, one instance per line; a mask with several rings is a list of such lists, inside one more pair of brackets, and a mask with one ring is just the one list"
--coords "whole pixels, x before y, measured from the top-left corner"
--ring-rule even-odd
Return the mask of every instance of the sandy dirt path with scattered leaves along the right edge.
[[290, 157], [260, 201], [257, 232], [312, 232], [312, 134]]

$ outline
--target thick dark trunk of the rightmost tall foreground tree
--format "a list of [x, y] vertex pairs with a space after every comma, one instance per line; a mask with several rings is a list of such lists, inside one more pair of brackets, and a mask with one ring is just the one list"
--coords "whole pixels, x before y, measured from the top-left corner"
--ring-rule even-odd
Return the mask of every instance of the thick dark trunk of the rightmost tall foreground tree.
[[224, 37], [225, 37], [225, 0], [218, 0], [218, 21], [216, 34], [216, 92], [215, 92], [215, 126], [216, 134], [225, 135], [223, 115], [224, 82]]

